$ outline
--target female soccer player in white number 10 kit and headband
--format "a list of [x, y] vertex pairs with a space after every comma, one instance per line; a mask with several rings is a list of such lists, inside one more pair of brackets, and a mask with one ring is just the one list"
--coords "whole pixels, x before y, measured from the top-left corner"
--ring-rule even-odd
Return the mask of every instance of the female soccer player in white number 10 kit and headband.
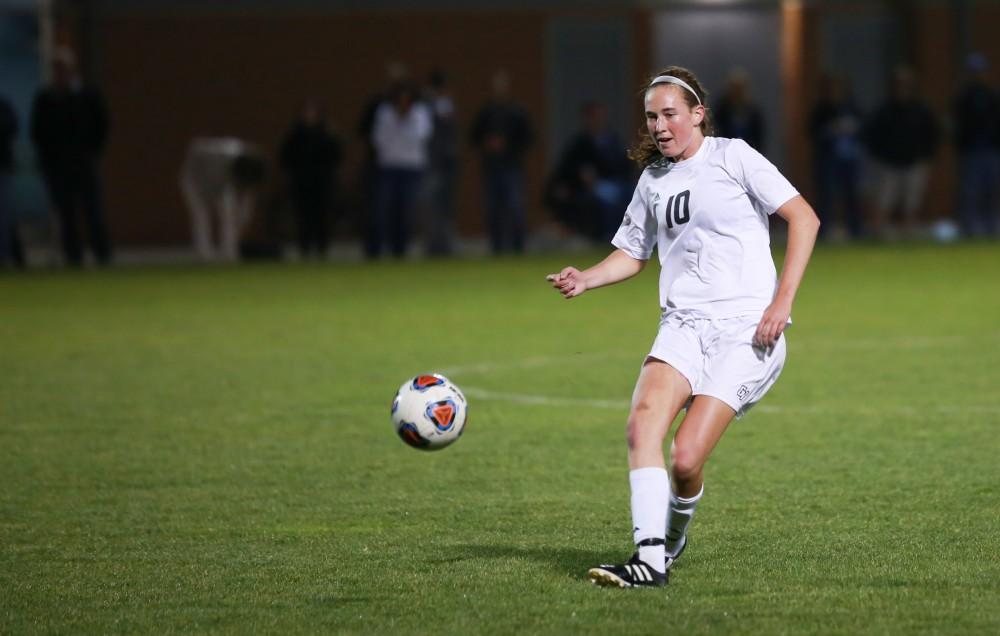
[[[783, 331], [819, 229], [812, 208], [767, 159], [739, 139], [709, 136], [705, 101], [687, 69], [672, 66], [650, 81], [649, 137], [631, 153], [645, 169], [612, 239], [617, 249], [589, 269], [547, 277], [574, 298], [636, 275], [654, 246], [659, 252], [663, 314], [627, 427], [637, 550], [623, 565], [592, 568], [600, 585], [666, 585], [687, 546], [709, 454], [781, 373]], [[780, 279], [772, 213], [788, 221]], [[668, 477], [663, 442], [685, 406]]]

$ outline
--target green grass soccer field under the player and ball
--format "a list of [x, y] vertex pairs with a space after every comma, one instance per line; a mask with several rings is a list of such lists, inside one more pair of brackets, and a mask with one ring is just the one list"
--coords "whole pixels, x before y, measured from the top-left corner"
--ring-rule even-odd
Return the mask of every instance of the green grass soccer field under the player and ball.
[[658, 318], [543, 281], [600, 256], [0, 276], [0, 633], [1000, 633], [1000, 245], [817, 251], [665, 590], [586, 579]]

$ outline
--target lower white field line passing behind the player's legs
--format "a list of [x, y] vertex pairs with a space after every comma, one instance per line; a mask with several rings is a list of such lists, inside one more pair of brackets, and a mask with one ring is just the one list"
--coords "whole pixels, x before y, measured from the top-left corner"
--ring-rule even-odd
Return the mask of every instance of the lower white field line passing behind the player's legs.
[[[490, 391], [478, 387], [462, 389], [467, 397], [477, 400], [509, 402], [512, 404], [528, 404], [533, 406], [558, 406], [576, 409], [608, 409], [627, 411], [628, 400], [595, 400], [590, 398], [571, 398], [553, 395], [531, 395], [527, 393], [508, 393]], [[935, 406], [868, 406], [860, 404], [827, 405], [827, 406], [780, 406], [776, 404], [758, 404], [753, 407], [755, 413], [797, 413], [801, 415], [818, 415], [837, 411], [845, 414], [864, 416], [898, 415], [915, 417], [919, 415], [997, 415], [1000, 414], [1000, 404], [938, 404]]]

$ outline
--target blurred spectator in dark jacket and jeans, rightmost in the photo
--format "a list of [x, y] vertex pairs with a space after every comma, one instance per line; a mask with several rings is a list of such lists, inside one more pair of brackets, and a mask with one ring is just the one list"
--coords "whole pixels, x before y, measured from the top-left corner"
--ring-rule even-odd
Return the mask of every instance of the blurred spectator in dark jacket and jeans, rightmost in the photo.
[[955, 97], [955, 147], [958, 150], [958, 206], [966, 236], [997, 233], [1000, 181], [1000, 97], [986, 82], [986, 58], [966, 60], [968, 79]]

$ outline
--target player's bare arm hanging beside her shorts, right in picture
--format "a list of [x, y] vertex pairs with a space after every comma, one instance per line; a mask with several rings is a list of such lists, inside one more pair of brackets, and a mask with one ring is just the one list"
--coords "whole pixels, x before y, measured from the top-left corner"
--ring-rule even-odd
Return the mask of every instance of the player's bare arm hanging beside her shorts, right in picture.
[[754, 334], [753, 343], [758, 347], [774, 346], [785, 330], [788, 317], [792, 315], [795, 293], [802, 282], [819, 232], [819, 218], [801, 196], [789, 199], [775, 213], [788, 221], [788, 247], [785, 251], [785, 263], [781, 267], [781, 278], [778, 279], [778, 291], [764, 310], [764, 316]]

